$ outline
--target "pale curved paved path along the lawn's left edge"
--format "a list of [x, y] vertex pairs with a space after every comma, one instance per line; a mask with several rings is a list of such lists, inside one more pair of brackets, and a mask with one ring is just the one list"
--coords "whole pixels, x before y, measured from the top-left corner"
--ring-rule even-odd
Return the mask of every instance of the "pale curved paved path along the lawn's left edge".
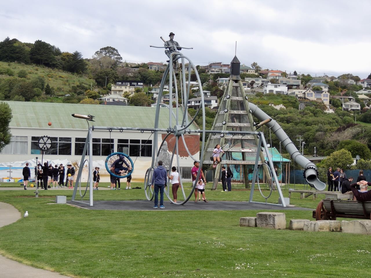
[[[20, 212], [8, 203], [0, 202], [0, 228], [16, 222], [21, 218]], [[39, 268], [23, 265], [0, 255], [1, 278], [70, 278]]]

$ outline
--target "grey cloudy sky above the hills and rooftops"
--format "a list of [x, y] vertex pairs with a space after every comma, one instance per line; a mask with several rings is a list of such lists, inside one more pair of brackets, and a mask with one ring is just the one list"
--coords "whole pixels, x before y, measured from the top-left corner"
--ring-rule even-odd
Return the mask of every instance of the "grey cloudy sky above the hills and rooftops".
[[263, 68], [366, 78], [371, 1], [7, 1], [0, 39], [43, 40], [91, 58], [101, 47], [133, 62], [165, 62], [170, 32], [194, 64], [257, 62]]

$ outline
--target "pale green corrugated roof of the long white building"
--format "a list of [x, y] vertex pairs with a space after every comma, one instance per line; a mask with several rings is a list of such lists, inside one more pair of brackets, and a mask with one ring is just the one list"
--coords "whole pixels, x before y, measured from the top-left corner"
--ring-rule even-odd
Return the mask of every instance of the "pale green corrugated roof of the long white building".
[[[86, 120], [73, 118], [71, 114], [93, 115], [95, 126], [116, 126], [132, 128], [153, 128], [156, 107], [142, 106], [108, 106], [72, 103], [43, 103], [6, 101], [12, 109], [13, 118], [10, 127], [19, 128], [55, 128], [55, 129], [88, 129]], [[175, 108], [173, 108], [174, 113]], [[179, 110], [181, 118], [181, 109]], [[52, 126], [48, 126], [52, 122]], [[175, 125], [173, 117], [172, 126]], [[168, 128], [169, 110], [160, 110], [159, 128]], [[197, 129], [191, 125], [190, 129]]]

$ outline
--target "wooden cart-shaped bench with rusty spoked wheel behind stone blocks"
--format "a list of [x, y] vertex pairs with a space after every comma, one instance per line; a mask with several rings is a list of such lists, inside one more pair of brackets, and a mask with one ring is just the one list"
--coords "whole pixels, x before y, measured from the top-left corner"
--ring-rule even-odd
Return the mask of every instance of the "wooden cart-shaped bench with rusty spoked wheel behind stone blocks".
[[336, 220], [336, 217], [371, 219], [371, 202], [324, 199], [313, 211], [316, 220]]

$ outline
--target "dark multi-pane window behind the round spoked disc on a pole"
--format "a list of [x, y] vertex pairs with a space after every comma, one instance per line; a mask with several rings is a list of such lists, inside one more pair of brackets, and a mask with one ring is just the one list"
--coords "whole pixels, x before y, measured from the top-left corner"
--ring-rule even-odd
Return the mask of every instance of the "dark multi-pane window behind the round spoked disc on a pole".
[[[32, 155], [41, 154], [39, 144], [37, 143], [39, 138], [37, 136], [31, 137]], [[70, 137], [50, 137], [50, 140], [52, 140], [52, 146], [44, 152], [45, 155], [71, 155], [72, 143]]]

